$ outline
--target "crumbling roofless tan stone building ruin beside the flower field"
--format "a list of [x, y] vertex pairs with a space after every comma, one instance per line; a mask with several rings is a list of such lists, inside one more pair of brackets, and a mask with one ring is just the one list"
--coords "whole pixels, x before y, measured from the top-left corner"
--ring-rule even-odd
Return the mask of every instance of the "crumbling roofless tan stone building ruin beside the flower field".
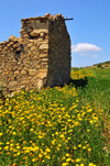
[[70, 37], [62, 14], [21, 19], [21, 37], [0, 43], [0, 87], [41, 89], [70, 79]]

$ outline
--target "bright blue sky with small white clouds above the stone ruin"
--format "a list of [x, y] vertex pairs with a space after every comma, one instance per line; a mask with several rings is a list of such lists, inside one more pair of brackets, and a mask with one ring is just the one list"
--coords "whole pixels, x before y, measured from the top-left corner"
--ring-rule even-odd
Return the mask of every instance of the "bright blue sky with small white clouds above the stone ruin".
[[110, 60], [110, 0], [0, 0], [0, 43], [20, 37], [21, 19], [46, 13], [65, 21], [72, 40], [72, 67]]

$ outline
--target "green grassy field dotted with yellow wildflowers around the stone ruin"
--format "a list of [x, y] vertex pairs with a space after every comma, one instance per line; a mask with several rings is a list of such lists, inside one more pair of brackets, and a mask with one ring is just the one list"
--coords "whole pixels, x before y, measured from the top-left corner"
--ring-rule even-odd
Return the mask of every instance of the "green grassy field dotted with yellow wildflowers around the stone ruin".
[[0, 106], [0, 166], [110, 166], [110, 68]]

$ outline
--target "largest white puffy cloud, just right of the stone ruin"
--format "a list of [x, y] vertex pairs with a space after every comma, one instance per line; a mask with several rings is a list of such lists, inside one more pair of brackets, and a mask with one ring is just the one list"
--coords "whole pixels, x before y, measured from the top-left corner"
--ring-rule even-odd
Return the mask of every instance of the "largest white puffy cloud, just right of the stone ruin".
[[78, 43], [76, 45], [72, 45], [72, 52], [100, 52], [100, 51], [102, 49], [89, 43]]

